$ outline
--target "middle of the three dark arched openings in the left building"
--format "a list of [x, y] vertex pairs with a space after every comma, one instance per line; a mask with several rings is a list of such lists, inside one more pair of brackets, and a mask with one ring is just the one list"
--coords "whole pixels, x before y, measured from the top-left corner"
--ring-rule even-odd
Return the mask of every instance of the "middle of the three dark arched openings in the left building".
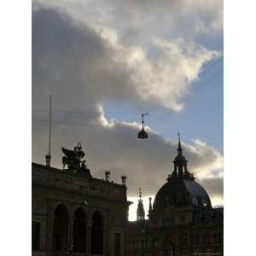
[[86, 224], [87, 218], [82, 208], [74, 213], [73, 220], [73, 252], [85, 253], [86, 250]]

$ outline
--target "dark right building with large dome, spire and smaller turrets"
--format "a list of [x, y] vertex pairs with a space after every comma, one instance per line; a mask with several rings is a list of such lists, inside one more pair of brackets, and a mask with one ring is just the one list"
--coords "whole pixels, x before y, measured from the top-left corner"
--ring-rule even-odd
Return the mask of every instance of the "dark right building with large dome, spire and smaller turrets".
[[212, 208], [205, 189], [189, 173], [180, 139], [174, 170], [154, 198], [148, 219], [143, 201], [129, 222], [127, 256], [223, 255], [223, 207]]

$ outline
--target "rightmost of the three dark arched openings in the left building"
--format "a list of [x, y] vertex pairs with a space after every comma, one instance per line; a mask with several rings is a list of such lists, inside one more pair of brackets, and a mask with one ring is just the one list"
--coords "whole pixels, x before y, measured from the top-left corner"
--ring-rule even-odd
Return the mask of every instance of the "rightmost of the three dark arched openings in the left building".
[[104, 221], [100, 212], [95, 212], [92, 216], [91, 225], [91, 253], [103, 254], [103, 229]]

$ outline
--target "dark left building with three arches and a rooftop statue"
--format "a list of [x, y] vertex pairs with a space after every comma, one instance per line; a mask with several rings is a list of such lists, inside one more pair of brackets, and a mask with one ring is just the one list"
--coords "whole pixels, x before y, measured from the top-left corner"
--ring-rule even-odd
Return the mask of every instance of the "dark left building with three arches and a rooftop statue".
[[[32, 163], [32, 255], [125, 255], [129, 202], [121, 184], [92, 177], [78, 144], [63, 170]], [[67, 166], [67, 169], [64, 169]]]

